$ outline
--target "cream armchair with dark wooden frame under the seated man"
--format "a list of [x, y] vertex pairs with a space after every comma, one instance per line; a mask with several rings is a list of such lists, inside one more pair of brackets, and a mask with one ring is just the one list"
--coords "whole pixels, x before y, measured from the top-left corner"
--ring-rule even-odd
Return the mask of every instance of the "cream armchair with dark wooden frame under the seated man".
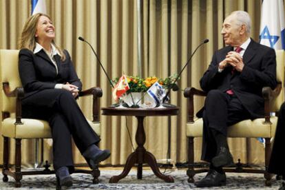
[[[257, 138], [263, 137], [265, 139], [265, 167], [263, 169], [244, 169], [240, 163], [240, 159], [237, 163], [236, 168], [226, 168], [226, 172], [248, 172], [248, 173], [259, 173], [264, 174], [266, 178], [265, 184], [271, 185], [271, 174], [268, 174], [267, 167], [271, 156], [271, 138], [275, 135], [275, 129], [277, 124], [277, 117], [271, 116], [270, 112], [277, 112], [282, 102], [284, 102], [284, 91], [282, 89], [282, 82], [284, 82], [284, 62], [285, 56], [284, 51], [277, 50], [277, 81], [278, 86], [274, 91], [271, 88], [266, 87], [263, 89], [263, 96], [265, 100], [264, 105], [264, 118], [250, 119], [240, 121], [233, 126], [228, 128], [228, 137], [244, 137], [244, 138]], [[188, 139], [188, 170], [187, 176], [188, 181], [194, 182], [193, 176], [200, 172], [207, 171], [207, 169], [195, 169], [194, 165], [194, 141], [195, 137], [202, 137], [203, 121], [202, 118], [194, 119], [194, 104], [193, 98], [196, 96], [205, 96], [206, 93], [197, 90], [196, 88], [185, 88], [184, 97], [187, 98], [187, 139]]]

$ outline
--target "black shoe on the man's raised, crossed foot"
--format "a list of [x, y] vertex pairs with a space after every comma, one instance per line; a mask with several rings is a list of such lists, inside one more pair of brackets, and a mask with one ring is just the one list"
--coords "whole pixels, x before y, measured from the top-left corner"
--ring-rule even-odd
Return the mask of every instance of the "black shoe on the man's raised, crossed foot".
[[212, 163], [214, 167], [224, 167], [233, 165], [233, 156], [229, 152], [228, 147], [220, 147], [220, 152], [217, 156], [213, 157]]

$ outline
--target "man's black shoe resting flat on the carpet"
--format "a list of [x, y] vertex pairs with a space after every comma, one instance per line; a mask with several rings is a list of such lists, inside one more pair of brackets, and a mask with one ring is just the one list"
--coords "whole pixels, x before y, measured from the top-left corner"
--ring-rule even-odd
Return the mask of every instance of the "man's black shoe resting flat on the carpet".
[[196, 187], [219, 187], [226, 185], [226, 174], [210, 169], [208, 174], [198, 182], [194, 182]]

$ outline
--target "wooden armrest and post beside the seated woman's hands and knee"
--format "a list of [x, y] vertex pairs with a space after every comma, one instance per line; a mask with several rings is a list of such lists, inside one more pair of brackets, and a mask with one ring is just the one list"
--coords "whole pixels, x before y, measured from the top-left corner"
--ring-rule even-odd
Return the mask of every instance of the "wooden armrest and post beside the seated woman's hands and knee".
[[99, 112], [100, 112], [98, 98], [102, 97], [102, 95], [103, 95], [102, 89], [100, 87], [92, 87], [92, 88], [89, 88], [85, 91], [81, 91], [79, 93], [79, 97], [87, 96], [87, 95], [93, 95], [93, 109], [92, 109], [93, 119], [92, 119], [92, 122], [98, 122], [99, 121]]

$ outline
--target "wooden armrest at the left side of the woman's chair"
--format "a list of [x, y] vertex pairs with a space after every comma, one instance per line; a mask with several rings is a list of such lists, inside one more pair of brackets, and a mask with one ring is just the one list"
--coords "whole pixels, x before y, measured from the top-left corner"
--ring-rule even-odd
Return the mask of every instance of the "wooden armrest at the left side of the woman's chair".
[[9, 82], [3, 82], [3, 91], [7, 97], [16, 97], [16, 122], [15, 124], [23, 124], [21, 121], [22, 118], [22, 103], [21, 98], [24, 96], [24, 90], [22, 87], [14, 88], [13, 91], [10, 91]]

